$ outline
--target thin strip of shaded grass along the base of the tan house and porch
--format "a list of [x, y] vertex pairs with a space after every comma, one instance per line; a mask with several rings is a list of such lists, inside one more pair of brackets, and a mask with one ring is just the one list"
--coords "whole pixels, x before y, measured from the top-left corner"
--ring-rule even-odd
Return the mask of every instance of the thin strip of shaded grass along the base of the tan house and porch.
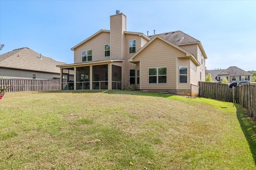
[[72, 94], [91, 94], [91, 93], [105, 93], [105, 94], [115, 94], [115, 95], [136, 95], [136, 96], [154, 96], [168, 98], [173, 96], [173, 94], [162, 94], [160, 92], [146, 92], [146, 91], [129, 91], [129, 90], [59, 90], [59, 91], [39, 91], [35, 93], [72, 93]]

